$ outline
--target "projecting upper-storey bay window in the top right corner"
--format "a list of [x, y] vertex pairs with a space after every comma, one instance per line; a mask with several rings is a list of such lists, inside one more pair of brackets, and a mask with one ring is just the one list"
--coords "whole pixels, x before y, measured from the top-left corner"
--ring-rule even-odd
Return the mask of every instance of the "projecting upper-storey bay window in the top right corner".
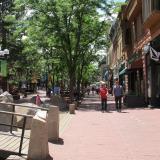
[[142, 10], [145, 21], [153, 10], [160, 10], [160, 0], [142, 0]]

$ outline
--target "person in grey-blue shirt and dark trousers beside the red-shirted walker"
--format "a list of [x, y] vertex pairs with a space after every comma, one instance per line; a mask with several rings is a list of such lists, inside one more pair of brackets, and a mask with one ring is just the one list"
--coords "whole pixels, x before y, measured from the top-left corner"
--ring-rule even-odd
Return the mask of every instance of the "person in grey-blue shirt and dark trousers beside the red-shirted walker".
[[115, 85], [113, 86], [113, 96], [115, 97], [116, 110], [117, 112], [121, 112], [123, 88], [119, 85], [118, 80], [115, 81]]

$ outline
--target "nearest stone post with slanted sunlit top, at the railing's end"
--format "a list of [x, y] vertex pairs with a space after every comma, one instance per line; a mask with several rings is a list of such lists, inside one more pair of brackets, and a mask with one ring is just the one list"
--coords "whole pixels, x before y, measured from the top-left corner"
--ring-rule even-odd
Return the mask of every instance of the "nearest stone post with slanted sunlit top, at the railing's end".
[[49, 156], [47, 112], [38, 111], [31, 125], [28, 160], [46, 160]]

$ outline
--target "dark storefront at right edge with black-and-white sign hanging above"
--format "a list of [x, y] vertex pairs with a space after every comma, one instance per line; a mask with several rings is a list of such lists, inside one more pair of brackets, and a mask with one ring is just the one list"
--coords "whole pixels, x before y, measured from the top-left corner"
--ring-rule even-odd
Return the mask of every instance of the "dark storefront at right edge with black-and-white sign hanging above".
[[160, 106], [160, 36], [150, 42], [146, 70], [148, 104]]

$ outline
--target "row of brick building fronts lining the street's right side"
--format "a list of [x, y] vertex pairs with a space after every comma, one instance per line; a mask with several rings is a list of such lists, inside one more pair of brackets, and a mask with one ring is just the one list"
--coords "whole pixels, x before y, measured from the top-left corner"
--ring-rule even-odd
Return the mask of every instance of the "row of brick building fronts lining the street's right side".
[[117, 20], [112, 57], [129, 105], [160, 106], [160, 1], [129, 0]]

